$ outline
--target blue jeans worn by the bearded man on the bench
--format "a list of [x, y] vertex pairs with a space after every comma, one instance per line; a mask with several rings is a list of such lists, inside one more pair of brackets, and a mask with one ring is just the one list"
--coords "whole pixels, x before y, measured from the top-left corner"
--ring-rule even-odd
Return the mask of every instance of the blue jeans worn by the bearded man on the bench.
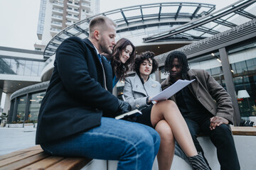
[[99, 127], [41, 147], [58, 156], [118, 160], [119, 170], [145, 170], [152, 168], [159, 145], [159, 134], [149, 126], [102, 118]]

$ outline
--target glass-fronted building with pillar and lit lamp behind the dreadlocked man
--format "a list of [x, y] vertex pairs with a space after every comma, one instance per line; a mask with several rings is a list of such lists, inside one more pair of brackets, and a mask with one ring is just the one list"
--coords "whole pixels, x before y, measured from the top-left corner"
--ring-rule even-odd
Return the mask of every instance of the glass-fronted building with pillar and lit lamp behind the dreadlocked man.
[[[206, 69], [230, 94], [235, 125], [256, 116], [256, 18], [210, 38], [178, 48], [186, 53], [191, 69]], [[166, 79], [159, 55], [159, 81]]]

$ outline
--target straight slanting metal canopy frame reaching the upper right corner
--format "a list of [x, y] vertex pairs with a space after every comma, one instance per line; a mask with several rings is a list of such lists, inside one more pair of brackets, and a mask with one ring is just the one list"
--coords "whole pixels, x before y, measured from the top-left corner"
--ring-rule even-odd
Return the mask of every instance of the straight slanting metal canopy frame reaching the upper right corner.
[[202, 40], [223, 32], [242, 23], [250, 21], [255, 16], [256, 0], [240, 0], [219, 11], [171, 28], [162, 33], [143, 38], [144, 42], [170, 41], [176, 38], [183, 40]]

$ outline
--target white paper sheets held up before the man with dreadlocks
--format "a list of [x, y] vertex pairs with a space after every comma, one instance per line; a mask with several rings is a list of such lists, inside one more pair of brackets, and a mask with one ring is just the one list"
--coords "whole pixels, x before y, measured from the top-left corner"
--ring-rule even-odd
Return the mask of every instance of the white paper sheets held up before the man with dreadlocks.
[[179, 79], [176, 81], [173, 85], [169, 86], [167, 89], [164, 91], [161, 91], [159, 94], [156, 94], [153, 98], [151, 98], [151, 101], [164, 101], [168, 99], [169, 97], [173, 96], [176, 94], [178, 91], [183, 89], [185, 86], [188, 86], [188, 84], [191, 84], [193, 80], [181, 80]]

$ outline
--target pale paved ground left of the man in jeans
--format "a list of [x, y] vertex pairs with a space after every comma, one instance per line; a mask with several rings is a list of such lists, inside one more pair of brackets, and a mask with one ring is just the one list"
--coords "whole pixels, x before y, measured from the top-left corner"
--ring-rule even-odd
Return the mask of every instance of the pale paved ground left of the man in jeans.
[[35, 146], [36, 128], [23, 132], [23, 128], [0, 128], [0, 155]]

